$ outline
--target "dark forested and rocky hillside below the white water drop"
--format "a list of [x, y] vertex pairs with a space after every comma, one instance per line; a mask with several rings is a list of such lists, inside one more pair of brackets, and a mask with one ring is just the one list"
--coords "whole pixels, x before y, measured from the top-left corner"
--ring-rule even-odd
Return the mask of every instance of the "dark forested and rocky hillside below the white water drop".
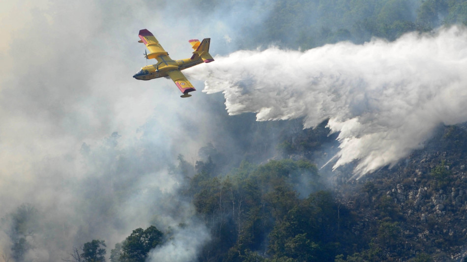
[[[294, 145], [316, 148], [310, 130], [299, 133]], [[423, 149], [359, 180], [351, 167], [319, 170], [306, 149], [260, 165], [244, 161], [228, 174], [212, 161], [218, 152], [195, 166], [180, 156], [173, 172], [185, 175], [180, 197], [210, 229], [200, 261], [459, 261], [467, 240], [465, 148], [463, 127], [441, 126]], [[160, 230], [133, 231], [111, 261], [142, 261], [171, 238]]]

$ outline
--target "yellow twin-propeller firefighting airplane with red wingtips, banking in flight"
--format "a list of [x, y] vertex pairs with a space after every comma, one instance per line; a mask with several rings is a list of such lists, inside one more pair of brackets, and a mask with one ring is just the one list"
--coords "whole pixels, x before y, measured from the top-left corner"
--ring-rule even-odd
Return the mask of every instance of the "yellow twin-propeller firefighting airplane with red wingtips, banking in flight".
[[196, 89], [180, 71], [203, 62], [209, 63], [214, 61], [208, 53], [210, 38], [204, 38], [202, 42], [198, 39], [190, 40], [189, 42], [195, 50], [193, 56], [191, 58], [174, 61], [162, 48], [154, 35], [147, 29], [140, 30], [138, 36], [141, 38], [138, 42], [144, 43], [150, 52], [149, 54], [145, 52], [145, 58], [156, 58], [157, 63], [142, 67], [133, 77], [138, 80], [170, 77], [183, 93], [180, 97], [190, 97], [191, 94], [189, 94], [189, 92], [195, 91]]

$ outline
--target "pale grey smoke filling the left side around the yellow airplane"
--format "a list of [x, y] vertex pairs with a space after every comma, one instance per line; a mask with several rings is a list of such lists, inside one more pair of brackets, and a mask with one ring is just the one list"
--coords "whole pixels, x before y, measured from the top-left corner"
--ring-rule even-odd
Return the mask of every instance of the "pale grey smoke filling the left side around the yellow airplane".
[[[248, 17], [243, 8], [231, 11]], [[211, 37], [213, 56], [235, 50], [235, 25], [246, 21], [217, 10], [206, 15], [191, 1], [0, 3], [0, 217], [21, 204], [38, 210], [27, 260], [60, 261], [92, 239], [110, 251], [151, 223], [163, 231], [192, 225], [176, 235], [198, 242], [174, 238], [192, 246], [187, 252], [208, 239], [191, 207], [171, 196], [181, 178], [168, 167], [180, 153], [194, 162], [222, 133], [209, 112], [213, 96], [201, 92], [203, 82], [182, 99], [170, 80], [132, 76], [146, 65], [140, 29], [174, 59], [189, 58], [195, 38]], [[10, 222], [1, 225], [2, 254], [17, 240]], [[194, 257], [178, 253], [180, 261]]]

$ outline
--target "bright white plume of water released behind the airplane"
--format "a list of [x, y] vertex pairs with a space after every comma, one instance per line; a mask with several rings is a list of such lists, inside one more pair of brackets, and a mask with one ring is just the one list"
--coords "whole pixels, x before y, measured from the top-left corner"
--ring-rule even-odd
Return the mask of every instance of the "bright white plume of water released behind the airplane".
[[467, 121], [467, 32], [409, 33], [394, 42], [341, 42], [305, 52], [271, 47], [216, 57], [193, 68], [204, 92], [223, 92], [230, 115], [257, 120], [329, 119], [340, 132], [334, 168], [358, 160], [356, 176], [394, 165], [441, 123]]

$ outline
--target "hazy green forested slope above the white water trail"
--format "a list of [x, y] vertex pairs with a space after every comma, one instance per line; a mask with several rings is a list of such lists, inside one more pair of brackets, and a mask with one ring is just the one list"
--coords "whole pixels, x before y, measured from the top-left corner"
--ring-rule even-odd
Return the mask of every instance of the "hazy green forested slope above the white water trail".
[[[339, 41], [363, 43], [372, 37], [390, 41], [409, 31], [467, 24], [463, 0], [279, 0], [263, 27], [246, 28], [258, 43], [304, 50]], [[249, 42], [251, 40], [251, 42]]]

